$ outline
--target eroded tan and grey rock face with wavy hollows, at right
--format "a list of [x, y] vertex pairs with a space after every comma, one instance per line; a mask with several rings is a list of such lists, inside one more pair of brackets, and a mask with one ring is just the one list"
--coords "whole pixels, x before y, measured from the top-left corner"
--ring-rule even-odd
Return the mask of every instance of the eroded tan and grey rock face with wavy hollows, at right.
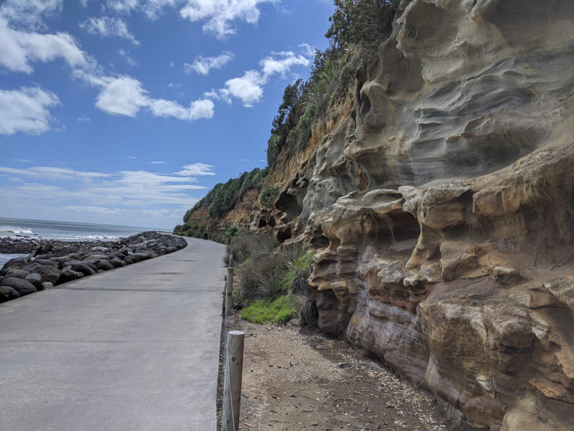
[[573, 88], [571, 2], [402, 1], [278, 199], [319, 326], [477, 428], [574, 423]]

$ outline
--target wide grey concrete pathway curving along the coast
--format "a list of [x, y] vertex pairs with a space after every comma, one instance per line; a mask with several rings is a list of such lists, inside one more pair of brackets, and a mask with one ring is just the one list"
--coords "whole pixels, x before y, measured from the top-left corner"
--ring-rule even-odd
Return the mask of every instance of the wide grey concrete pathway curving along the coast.
[[223, 256], [176, 253], [0, 304], [0, 430], [214, 430]]

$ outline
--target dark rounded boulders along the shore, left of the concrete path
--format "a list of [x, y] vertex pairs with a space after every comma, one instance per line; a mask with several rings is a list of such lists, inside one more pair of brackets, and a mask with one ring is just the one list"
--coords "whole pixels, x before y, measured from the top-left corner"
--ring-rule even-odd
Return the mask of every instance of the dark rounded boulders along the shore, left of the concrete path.
[[184, 238], [143, 232], [116, 242], [50, 241], [1, 238], [3, 253], [30, 253], [0, 269], [0, 303], [109, 269], [173, 253], [187, 246]]

